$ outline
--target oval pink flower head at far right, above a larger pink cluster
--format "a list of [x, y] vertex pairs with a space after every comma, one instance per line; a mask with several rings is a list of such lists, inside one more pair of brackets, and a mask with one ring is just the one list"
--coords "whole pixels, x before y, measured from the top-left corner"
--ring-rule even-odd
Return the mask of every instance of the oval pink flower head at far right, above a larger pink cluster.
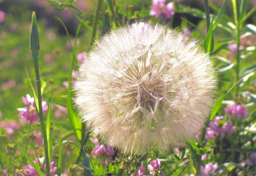
[[240, 104], [229, 104], [227, 108], [225, 108], [226, 113], [229, 115], [235, 115], [238, 119], [241, 117], [247, 118], [249, 117], [249, 114], [247, 113], [248, 109], [243, 107], [243, 105]]

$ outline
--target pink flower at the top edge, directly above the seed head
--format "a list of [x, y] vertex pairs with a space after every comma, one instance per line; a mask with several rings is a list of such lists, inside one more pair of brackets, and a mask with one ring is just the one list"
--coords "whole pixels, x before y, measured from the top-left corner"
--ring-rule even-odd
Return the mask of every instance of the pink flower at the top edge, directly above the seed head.
[[170, 19], [174, 15], [174, 2], [166, 5], [166, 0], [152, 0], [150, 15], [156, 18]]

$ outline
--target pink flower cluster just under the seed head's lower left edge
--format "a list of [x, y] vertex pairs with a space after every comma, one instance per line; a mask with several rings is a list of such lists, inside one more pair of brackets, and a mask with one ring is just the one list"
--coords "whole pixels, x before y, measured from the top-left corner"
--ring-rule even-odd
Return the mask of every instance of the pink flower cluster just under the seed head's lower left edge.
[[112, 147], [100, 145], [97, 138], [90, 138], [90, 140], [96, 145], [92, 150], [92, 157], [100, 157], [100, 165], [108, 166], [114, 162], [112, 156], [115, 151]]

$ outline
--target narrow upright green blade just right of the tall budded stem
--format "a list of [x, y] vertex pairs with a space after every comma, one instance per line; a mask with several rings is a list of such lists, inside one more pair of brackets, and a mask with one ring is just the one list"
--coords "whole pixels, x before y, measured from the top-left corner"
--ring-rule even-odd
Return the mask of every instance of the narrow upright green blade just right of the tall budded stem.
[[46, 122], [46, 136], [48, 141], [48, 155], [49, 158], [52, 158], [52, 143], [51, 143], [51, 91], [49, 93], [48, 99], [48, 115], [47, 115], [47, 122]]

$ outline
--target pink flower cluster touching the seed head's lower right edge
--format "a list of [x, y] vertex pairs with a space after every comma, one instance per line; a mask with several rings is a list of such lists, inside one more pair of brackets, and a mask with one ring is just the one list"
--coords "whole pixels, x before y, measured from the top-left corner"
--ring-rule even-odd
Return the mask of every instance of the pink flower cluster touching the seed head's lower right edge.
[[213, 119], [212, 122], [209, 123], [209, 127], [207, 128], [207, 136], [206, 139], [212, 139], [216, 136], [225, 137], [225, 134], [233, 134], [236, 126], [233, 126], [232, 122], [225, 122], [224, 125], [220, 125], [218, 121], [225, 121], [223, 116], [217, 116]]

